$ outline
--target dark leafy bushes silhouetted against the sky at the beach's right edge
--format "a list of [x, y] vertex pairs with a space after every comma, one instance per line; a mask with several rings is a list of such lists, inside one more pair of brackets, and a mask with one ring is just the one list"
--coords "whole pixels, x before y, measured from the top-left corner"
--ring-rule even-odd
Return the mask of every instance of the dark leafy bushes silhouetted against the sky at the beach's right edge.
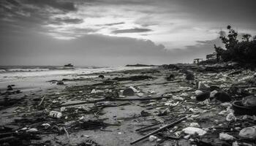
[[252, 37], [251, 34], [244, 34], [242, 40], [239, 42], [238, 32], [235, 31], [231, 26], [227, 26], [228, 35], [220, 36], [222, 42], [225, 44], [225, 48], [217, 47], [214, 48], [217, 52], [217, 60], [219, 56], [222, 61], [237, 61], [243, 64], [256, 64], [256, 36]]

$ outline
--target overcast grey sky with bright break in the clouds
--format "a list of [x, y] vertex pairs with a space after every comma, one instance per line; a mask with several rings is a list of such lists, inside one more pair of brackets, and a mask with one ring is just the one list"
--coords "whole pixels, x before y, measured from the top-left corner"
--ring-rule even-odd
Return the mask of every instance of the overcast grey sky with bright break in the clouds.
[[0, 65], [192, 63], [227, 25], [256, 34], [255, 0], [1, 0]]

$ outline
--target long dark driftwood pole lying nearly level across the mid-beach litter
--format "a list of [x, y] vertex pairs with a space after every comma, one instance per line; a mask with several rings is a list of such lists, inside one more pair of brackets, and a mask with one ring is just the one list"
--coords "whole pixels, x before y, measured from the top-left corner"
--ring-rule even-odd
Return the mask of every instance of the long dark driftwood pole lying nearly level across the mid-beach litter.
[[81, 102], [77, 102], [77, 103], [72, 103], [72, 104], [61, 104], [61, 107], [67, 107], [67, 106], [72, 106], [72, 105], [80, 105], [80, 104], [93, 104], [93, 103], [97, 103], [100, 101], [146, 101], [146, 100], [159, 100], [162, 99], [164, 97], [151, 97], [151, 98], [132, 98], [132, 99], [127, 99], [127, 98], [116, 98], [116, 99], [97, 99], [97, 100], [91, 100], [91, 101], [81, 101]]

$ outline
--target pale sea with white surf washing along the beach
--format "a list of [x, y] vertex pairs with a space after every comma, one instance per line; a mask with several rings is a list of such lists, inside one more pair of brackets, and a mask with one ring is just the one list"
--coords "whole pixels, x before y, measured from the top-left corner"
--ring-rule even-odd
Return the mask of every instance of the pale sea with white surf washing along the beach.
[[[146, 69], [148, 66], [0, 66], [0, 92], [4, 92], [8, 85], [15, 85], [14, 89], [30, 91], [32, 89], [53, 86], [50, 80], [79, 78], [81, 74], [97, 72], [115, 72], [131, 69]], [[91, 76], [83, 76], [91, 77]], [[55, 85], [55, 84], [54, 84]]]

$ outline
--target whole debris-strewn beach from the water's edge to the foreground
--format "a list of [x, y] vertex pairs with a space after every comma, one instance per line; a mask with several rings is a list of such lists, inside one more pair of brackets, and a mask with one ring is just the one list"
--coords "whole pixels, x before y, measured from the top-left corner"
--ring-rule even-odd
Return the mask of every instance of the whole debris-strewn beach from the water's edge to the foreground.
[[2, 93], [0, 145], [256, 145], [255, 71], [165, 65], [94, 75], [22, 98]]

